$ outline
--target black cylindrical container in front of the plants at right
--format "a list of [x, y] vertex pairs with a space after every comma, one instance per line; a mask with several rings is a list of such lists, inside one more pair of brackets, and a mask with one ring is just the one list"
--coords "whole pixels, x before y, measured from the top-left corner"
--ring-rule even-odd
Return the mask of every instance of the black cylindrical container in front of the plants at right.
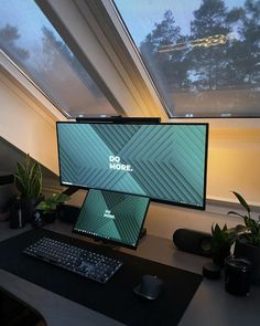
[[229, 256], [225, 260], [226, 292], [245, 296], [250, 293], [251, 263], [245, 257]]

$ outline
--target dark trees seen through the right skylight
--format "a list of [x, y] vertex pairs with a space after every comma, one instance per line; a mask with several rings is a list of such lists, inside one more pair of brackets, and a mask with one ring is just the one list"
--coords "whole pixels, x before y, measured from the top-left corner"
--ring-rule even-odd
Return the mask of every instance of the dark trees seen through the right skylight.
[[[259, 1], [235, 2], [230, 8], [223, 0], [202, 0], [191, 18], [189, 34], [177, 25], [171, 10], [154, 23], [140, 52], [148, 66], [155, 66], [164, 88], [216, 90], [259, 83]], [[203, 42], [219, 35], [226, 38], [225, 43], [207, 46]]]

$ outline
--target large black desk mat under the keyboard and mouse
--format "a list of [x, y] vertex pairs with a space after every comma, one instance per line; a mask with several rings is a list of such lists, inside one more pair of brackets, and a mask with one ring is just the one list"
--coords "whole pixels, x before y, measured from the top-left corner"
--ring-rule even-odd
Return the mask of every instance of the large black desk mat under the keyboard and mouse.
[[[120, 259], [123, 265], [106, 284], [22, 254], [22, 250], [42, 236], [93, 249]], [[193, 298], [202, 276], [149, 260], [111, 251], [44, 229], [31, 230], [0, 242], [0, 267], [48, 291], [85, 305], [127, 325], [177, 325]], [[133, 293], [142, 275], [164, 281], [156, 301], [147, 301]], [[87, 323], [87, 320], [86, 320]]]

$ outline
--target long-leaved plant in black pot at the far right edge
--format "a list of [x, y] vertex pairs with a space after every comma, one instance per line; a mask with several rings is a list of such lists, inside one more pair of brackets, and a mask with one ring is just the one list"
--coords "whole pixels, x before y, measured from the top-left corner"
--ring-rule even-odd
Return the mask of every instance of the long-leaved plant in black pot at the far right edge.
[[251, 209], [241, 194], [232, 191], [242, 208], [245, 214], [229, 211], [243, 219], [245, 225], [240, 227], [235, 245], [235, 255], [247, 257], [252, 264], [252, 282], [260, 285], [260, 217], [258, 220], [251, 217]]

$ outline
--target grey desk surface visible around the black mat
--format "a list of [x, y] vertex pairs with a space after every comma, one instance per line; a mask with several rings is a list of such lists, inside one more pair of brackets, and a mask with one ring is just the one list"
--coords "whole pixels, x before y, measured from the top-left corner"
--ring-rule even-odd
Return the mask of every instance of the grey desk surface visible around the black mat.
[[[0, 224], [0, 240], [14, 236], [29, 230], [10, 230], [8, 223]], [[46, 227], [55, 232], [71, 234], [72, 225], [55, 222]], [[80, 235], [76, 238], [84, 239]], [[137, 251], [121, 249], [152, 261], [183, 270], [201, 273], [205, 257], [177, 251], [172, 241], [147, 235], [141, 240]], [[86, 326], [86, 325], [122, 325], [97, 312], [86, 308], [35, 284], [0, 270], [0, 286], [35, 308], [45, 318], [48, 326]], [[189, 325], [258, 325], [260, 287], [252, 287], [249, 297], [234, 297], [224, 291], [224, 281], [204, 280], [180, 323]], [[173, 303], [174, 308], [174, 303]]]

